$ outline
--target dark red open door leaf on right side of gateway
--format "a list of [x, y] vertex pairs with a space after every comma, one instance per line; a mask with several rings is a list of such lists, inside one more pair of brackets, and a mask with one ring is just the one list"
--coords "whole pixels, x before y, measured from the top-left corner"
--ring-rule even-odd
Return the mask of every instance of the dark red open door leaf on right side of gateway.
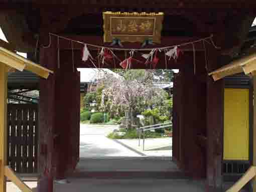
[[206, 84], [198, 77], [205, 74], [204, 63], [187, 64], [175, 76], [173, 111], [173, 156], [193, 178], [206, 175], [205, 149], [198, 137], [206, 134]]

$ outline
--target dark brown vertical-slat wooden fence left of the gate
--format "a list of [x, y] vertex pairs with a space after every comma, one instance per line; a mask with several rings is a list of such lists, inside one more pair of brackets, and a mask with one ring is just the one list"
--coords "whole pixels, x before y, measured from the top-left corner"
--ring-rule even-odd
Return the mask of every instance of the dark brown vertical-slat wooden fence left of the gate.
[[8, 104], [8, 163], [17, 173], [37, 173], [38, 105]]

